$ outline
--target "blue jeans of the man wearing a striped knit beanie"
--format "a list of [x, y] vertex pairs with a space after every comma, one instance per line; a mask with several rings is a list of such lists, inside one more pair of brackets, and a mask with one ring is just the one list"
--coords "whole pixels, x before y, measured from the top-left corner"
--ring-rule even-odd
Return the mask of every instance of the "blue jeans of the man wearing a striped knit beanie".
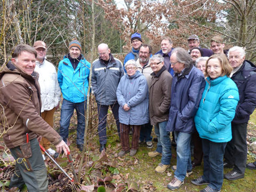
[[84, 145], [84, 129], [85, 129], [85, 109], [86, 101], [73, 103], [63, 99], [61, 113], [60, 113], [60, 136], [63, 141], [67, 142], [68, 127], [70, 118], [73, 116], [74, 109], [77, 114], [77, 129], [76, 129], [76, 144]]

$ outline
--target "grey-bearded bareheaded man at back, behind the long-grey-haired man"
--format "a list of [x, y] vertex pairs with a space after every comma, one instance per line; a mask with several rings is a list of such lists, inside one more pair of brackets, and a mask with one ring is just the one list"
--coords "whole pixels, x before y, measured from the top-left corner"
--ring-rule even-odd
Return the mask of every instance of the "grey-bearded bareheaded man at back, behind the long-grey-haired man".
[[158, 51], [156, 54], [161, 54], [164, 58], [164, 66], [167, 71], [170, 72], [171, 75], [173, 75], [174, 71], [171, 68], [170, 64], [170, 57], [172, 54], [172, 39], [170, 37], [164, 36], [161, 41], [161, 50]]

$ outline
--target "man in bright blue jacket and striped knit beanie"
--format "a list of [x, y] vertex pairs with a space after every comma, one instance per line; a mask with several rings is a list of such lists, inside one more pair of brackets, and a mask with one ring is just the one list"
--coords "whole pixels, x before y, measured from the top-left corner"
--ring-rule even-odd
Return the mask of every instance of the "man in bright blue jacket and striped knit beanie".
[[73, 40], [69, 43], [69, 53], [59, 62], [58, 82], [63, 102], [60, 114], [60, 135], [65, 142], [68, 139], [68, 127], [74, 109], [77, 114], [76, 144], [82, 151], [84, 145], [85, 108], [91, 64], [81, 54], [81, 43]]

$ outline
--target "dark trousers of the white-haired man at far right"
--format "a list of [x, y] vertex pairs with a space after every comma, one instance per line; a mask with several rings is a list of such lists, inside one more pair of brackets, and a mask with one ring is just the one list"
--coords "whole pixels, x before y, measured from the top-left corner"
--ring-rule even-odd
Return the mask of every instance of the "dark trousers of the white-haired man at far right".
[[247, 123], [231, 123], [232, 139], [228, 142], [225, 150], [225, 161], [234, 165], [234, 170], [239, 173], [245, 172], [247, 159]]

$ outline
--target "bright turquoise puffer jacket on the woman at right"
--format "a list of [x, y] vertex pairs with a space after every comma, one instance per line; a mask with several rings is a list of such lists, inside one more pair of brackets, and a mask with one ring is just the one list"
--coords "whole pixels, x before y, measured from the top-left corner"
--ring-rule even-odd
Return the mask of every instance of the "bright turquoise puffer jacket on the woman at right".
[[196, 130], [203, 139], [228, 142], [232, 139], [231, 121], [236, 113], [239, 93], [236, 84], [226, 75], [206, 85], [195, 116]]

